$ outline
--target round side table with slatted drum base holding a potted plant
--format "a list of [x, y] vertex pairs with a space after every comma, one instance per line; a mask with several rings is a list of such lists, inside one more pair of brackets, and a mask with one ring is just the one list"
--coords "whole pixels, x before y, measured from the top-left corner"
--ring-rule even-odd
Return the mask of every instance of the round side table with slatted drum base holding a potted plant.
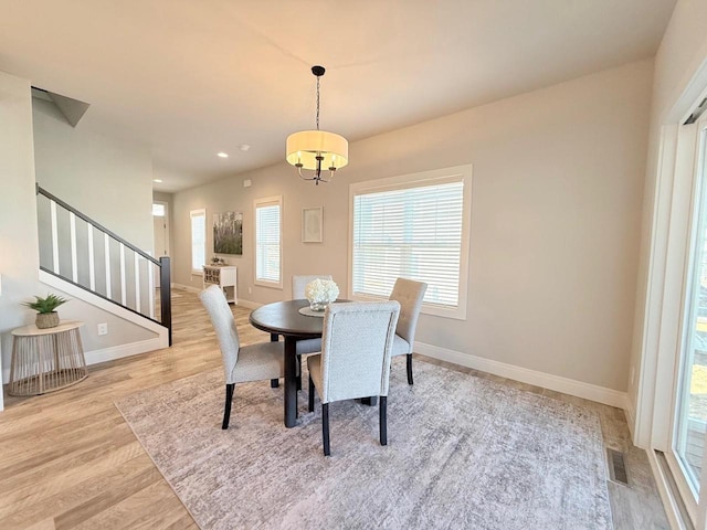
[[54, 328], [24, 326], [12, 330], [11, 395], [38, 395], [86, 379], [78, 328], [84, 322], [64, 320]]

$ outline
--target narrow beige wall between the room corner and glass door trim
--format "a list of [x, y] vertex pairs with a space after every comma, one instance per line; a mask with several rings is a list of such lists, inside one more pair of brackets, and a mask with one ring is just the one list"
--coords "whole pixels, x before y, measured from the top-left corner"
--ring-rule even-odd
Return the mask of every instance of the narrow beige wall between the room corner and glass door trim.
[[[646, 447], [650, 445], [651, 438], [652, 400], [656, 392], [657, 361], [655, 352], [648, 353], [645, 358], [644, 352], [653, 350], [651, 344], [657, 343], [656, 333], [659, 330], [659, 314], [650, 311], [646, 300], [650, 283], [659, 284], [663, 282], [662, 269], [665, 265], [665, 255], [655, 256], [653, 262], [651, 256], [654, 245], [659, 247], [665, 244], [667, 239], [666, 223], [661, 219], [658, 208], [656, 208], [661, 128], [665, 125], [677, 124], [683, 114], [688, 110], [688, 106], [697, 99], [700, 89], [707, 86], [705, 80], [694, 83], [697, 81], [694, 80], [694, 76], [705, 61], [707, 61], [707, 2], [678, 0], [655, 56], [635, 327], [630, 369], [630, 373], [634, 374], [634, 378], [630, 380], [629, 400], [630, 412], [635, 414], [635, 443]], [[666, 197], [665, 193], [663, 197]], [[669, 197], [667, 197], [667, 203], [669, 204]], [[661, 398], [661, 400], [663, 399], [669, 401], [672, 395]]]

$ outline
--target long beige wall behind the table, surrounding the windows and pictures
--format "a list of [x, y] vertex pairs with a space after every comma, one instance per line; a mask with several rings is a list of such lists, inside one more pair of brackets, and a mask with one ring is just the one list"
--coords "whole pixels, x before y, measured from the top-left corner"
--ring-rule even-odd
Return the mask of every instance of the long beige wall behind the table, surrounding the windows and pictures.
[[[244, 213], [244, 254], [228, 257], [242, 299], [288, 298], [293, 274], [346, 286], [349, 183], [472, 163], [467, 320], [423, 315], [418, 341], [625, 391], [652, 75], [651, 61], [633, 63], [352, 142], [350, 165], [319, 187], [281, 163], [176, 193], [175, 282], [201, 286], [189, 210], [205, 208], [209, 224]], [[283, 290], [253, 285], [253, 200], [276, 194]], [[300, 243], [302, 209], [316, 205], [324, 243]]]

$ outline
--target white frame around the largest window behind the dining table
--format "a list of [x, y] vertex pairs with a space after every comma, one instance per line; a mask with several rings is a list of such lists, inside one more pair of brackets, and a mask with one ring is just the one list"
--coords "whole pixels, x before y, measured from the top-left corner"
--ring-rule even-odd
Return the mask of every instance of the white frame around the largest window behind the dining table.
[[349, 245], [348, 245], [348, 298], [352, 300], [380, 300], [383, 296], [354, 295], [354, 208], [357, 195], [420, 188], [431, 184], [462, 181], [462, 245], [460, 251], [458, 305], [455, 308], [422, 304], [421, 312], [456, 320], [466, 320], [468, 286], [468, 251], [472, 219], [472, 165], [421, 171], [418, 173], [369, 180], [349, 184]]

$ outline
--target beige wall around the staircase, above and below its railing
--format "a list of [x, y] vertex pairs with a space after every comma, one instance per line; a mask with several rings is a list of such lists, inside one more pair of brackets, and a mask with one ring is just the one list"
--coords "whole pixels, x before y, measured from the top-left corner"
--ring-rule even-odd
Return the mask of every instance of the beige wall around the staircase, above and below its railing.
[[[33, 124], [30, 82], [2, 72], [0, 123], [0, 339], [7, 381], [12, 347], [10, 331], [34, 321], [34, 311], [21, 304], [48, 292], [63, 295], [38, 280], [35, 169], [36, 181], [42, 187], [107, 227], [127, 233], [140, 245], [149, 244], [147, 248], [151, 250], [151, 162], [144, 147], [133, 150], [126, 142], [102, 137], [93, 131], [89, 123], [83, 129], [81, 124], [73, 129], [57, 121], [51, 112], [40, 110], [34, 113]], [[82, 329], [86, 351], [155, 337], [78, 299], [62, 306], [60, 315], [86, 322]], [[97, 336], [98, 322], [108, 324], [108, 336]]]

